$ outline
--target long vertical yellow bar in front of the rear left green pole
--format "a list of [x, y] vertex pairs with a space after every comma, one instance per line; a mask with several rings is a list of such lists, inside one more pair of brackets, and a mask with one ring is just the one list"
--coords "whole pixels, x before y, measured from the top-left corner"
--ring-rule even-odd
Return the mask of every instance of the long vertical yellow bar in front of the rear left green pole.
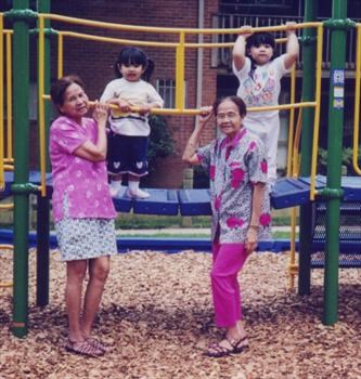
[[39, 13], [39, 79], [38, 79], [38, 102], [39, 102], [39, 149], [40, 149], [40, 188], [41, 196], [47, 195], [46, 185], [46, 120], [44, 104], [42, 94], [44, 93], [44, 17]]

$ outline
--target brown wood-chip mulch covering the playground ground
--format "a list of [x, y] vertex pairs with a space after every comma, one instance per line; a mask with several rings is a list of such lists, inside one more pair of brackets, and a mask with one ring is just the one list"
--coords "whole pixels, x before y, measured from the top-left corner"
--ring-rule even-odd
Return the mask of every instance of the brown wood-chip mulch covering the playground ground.
[[[210, 254], [131, 251], [112, 259], [94, 334], [109, 351], [100, 358], [67, 353], [65, 265], [51, 254], [50, 304], [35, 305], [35, 251], [29, 259], [29, 332], [12, 336], [12, 290], [0, 288], [0, 378], [258, 379], [361, 378], [361, 272], [340, 270], [339, 321], [321, 323], [323, 270], [312, 292], [287, 286], [287, 253], [254, 253], [241, 274], [250, 349], [208, 358], [222, 337], [212, 322]], [[0, 252], [0, 280], [12, 254]]]

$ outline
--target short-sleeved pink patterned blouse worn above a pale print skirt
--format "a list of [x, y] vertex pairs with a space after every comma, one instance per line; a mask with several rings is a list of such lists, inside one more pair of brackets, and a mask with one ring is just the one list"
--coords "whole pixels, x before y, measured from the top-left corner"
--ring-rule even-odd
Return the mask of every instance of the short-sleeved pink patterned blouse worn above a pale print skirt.
[[86, 141], [96, 142], [98, 126], [91, 118], [82, 125], [61, 116], [50, 129], [50, 158], [53, 182], [53, 219], [64, 218], [64, 195], [74, 219], [114, 219], [105, 161], [91, 161], [74, 155]]

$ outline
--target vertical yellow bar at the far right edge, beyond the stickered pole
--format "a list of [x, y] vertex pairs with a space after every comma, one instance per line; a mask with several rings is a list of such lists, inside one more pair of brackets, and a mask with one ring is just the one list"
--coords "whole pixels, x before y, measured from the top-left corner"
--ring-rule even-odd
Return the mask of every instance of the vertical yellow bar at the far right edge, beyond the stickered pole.
[[356, 50], [356, 77], [354, 77], [353, 152], [352, 152], [352, 165], [358, 175], [361, 175], [361, 168], [359, 166], [360, 80], [361, 80], [361, 24], [358, 24], [357, 25], [357, 50]]

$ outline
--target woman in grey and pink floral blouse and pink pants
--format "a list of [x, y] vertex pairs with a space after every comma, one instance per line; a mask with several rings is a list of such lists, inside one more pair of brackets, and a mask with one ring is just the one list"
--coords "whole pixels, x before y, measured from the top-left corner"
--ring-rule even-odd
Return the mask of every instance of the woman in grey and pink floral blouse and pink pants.
[[[223, 136], [198, 148], [203, 130], [215, 115]], [[218, 327], [224, 339], [206, 354], [220, 357], [248, 348], [242, 323], [237, 274], [257, 241], [270, 236], [270, 204], [267, 193], [267, 153], [262, 142], [245, 128], [246, 105], [237, 96], [203, 107], [183, 154], [191, 165], [209, 170], [212, 209], [212, 299]]]

